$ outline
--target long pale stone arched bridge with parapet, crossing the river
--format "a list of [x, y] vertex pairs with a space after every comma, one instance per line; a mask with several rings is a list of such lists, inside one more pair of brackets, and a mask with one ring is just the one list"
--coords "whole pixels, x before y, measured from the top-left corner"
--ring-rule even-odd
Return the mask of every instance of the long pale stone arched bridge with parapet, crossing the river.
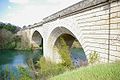
[[29, 47], [43, 45], [44, 57], [55, 62], [60, 61], [54, 50], [60, 37], [69, 48], [77, 42], [87, 59], [96, 51], [100, 62], [116, 61], [120, 59], [120, 0], [83, 0], [18, 33]]

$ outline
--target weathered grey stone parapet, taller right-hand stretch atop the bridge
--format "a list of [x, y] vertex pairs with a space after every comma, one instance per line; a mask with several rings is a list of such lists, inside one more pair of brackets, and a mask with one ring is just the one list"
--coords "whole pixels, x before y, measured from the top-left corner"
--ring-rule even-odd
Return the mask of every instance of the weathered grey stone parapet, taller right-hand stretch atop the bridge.
[[47, 23], [50, 21], [54, 21], [58, 18], [72, 16], [72, 15], [78, 14], [79, 12], [84, 12], [86, 10], [90, 10], [91, 8], [94, 8], [94, 6], [96, 7], [99, 4], [101, 4], [101, 6], [105, 5], [109, 1], [113, 2], [116, 0], [83, 0], [83, 1], [80, 1], [70, 7], [67, 7], [61, 11], [58, 11], [58, 12], [44, 18], [43, 21], [44, 21], [44, 23]]

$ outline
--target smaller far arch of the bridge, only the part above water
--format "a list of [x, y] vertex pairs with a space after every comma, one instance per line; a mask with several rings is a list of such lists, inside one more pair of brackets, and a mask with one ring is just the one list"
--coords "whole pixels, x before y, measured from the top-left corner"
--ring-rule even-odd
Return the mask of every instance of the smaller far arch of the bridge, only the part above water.
[[32, 48], [43, 47], [43, 37], [35, 30], [32, 34]]

